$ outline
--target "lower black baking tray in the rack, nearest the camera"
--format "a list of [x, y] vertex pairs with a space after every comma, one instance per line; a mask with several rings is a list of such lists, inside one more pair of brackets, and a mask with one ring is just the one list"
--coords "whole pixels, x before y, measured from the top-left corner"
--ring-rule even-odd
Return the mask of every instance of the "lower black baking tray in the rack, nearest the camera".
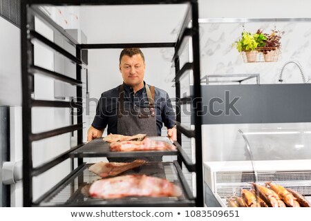
[[[122, 173], [145, 174], [167, 179], [180, 186], [180, 197], [126, 197], [122, 199], [102, 200], [90, 198], [82, 193], [82, 188], [91, 184], [100, 176], [88, 170], [92, 164], [83, 164], [55, 186], [50, 193], [38, 200], [37, 206], [195, 206], [194, 197], [187, 186], [179, 164], [175, 162], [148, 162], [138, 168]], [[121, 174], [120, 174], [121, 175]]]

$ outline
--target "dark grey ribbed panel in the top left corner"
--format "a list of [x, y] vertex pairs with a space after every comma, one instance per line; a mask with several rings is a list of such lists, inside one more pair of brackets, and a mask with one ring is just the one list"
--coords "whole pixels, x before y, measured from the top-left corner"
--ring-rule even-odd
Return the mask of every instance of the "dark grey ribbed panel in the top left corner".
[[0, 0], [0, 16], [21, 27], [21, 0]]

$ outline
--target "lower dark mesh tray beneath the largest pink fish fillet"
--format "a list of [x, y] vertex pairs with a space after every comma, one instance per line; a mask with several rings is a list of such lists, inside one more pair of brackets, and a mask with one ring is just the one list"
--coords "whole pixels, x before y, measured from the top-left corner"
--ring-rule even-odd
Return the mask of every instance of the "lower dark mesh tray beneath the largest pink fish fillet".
[[[63, 186], [59, 187], [55, 193], [51, 194], [48, 198], [44, 200], [40, 204], [40, 206], [92, 206], [93, 204], [120, 204], [120, 205], [129, 205], [129, 204], [144, 204], [144, 202], [154, 202], [158, 204], [165, 204], [165, 202], [169, 202], [169, 204], [173, 204], [174, 202], [182, 202], [185, 199], [185, 195], [182, 195], [179, 198], [176, 197], [169, 197], [169, 198], [149, 198], [149, 197], [128, 197], [123, 199], [115, 199], [115, 200], [102, 200], [102, 199], [95, 199], [89, 198], [85, 191], [82, 191], [84, 187], [87, 185], [92, 184], [95, 180], [101, 179], [95, 173], [92, 173], [88, 170], [88, 167], [91, 164], [86, 164], [82, 171], [73, 179], [68, 180]], [[146, 174], [152, 175], [154, 177], [161, 177], [169, 180], [173, 184], [181, 187], [180, 181], [178, 180], [178, 175], [175, 167], [172, 163], [148, 163], [140, 166], [137, 169], [133, 169], [131, 171], [126, 171], [123, 175], [126, 174]], [[82, 193], [84, 192], [84, 193]]]

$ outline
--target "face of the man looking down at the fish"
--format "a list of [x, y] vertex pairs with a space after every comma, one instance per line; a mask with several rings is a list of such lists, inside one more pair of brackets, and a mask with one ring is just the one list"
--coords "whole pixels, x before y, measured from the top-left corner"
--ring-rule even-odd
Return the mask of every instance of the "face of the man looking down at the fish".
[[145, 64], [140, 54], [132, 57], [124, 55], [119, 68], [125, 84], [131, 87], [143, 85]]

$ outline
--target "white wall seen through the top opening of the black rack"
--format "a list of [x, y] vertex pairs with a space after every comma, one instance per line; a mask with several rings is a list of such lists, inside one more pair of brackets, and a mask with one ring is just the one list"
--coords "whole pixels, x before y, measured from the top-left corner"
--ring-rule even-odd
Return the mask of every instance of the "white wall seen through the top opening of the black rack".
[[172, 42], [187, 6], [83, 6], [80, 25], [88, 43]]

